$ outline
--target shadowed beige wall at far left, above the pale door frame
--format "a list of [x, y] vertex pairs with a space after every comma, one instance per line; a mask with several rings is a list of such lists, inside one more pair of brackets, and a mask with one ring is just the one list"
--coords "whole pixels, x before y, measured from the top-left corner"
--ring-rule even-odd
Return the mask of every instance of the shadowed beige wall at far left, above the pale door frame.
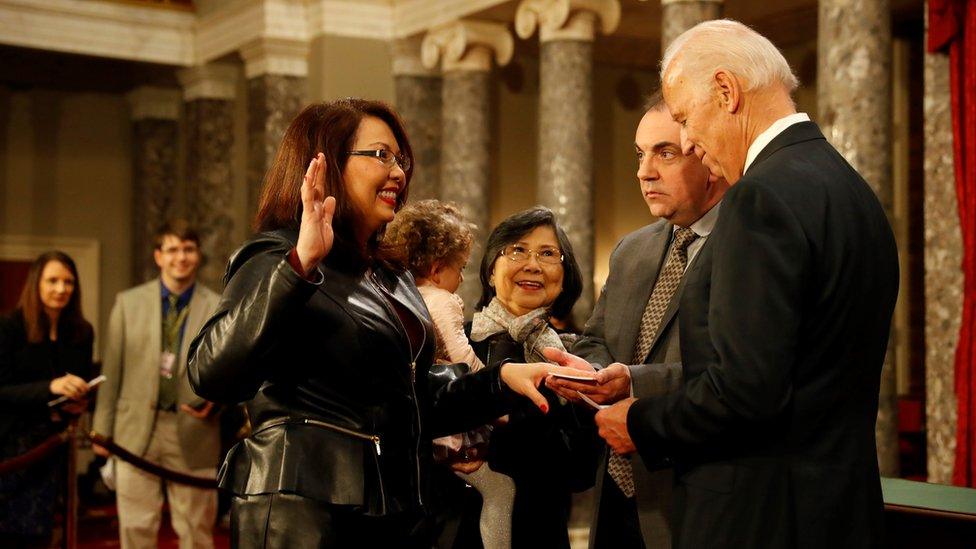
[[[102, 333], [129, 285], [131, 147], [121, 95], [0, 92], [0, 234], [93, 238]], [[88, 314], [89, 317], [94, 315]]]

